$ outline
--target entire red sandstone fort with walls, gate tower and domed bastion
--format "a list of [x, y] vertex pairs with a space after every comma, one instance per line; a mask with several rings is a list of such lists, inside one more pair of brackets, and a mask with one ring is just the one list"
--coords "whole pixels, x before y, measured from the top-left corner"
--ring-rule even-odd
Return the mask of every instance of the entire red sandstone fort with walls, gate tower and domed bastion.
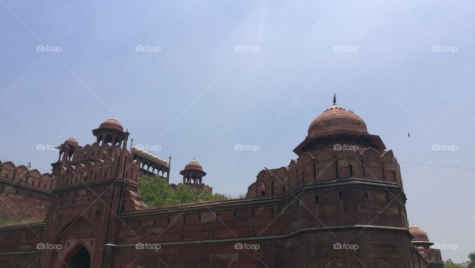
[[[138, 180], [169, 179], [115, 119], [94, 143], [69, 138], [50, 174], [0, 163], [0, 268], [442, 268], [409, 227], [399, 164], [365, 122], [339, 107], [308, 128], [288, 166], [265, 169], [246, 198], [148, 209]], [[212, 190], [196, 161], [183, 183]], [[172, 185], [174, 186], [174, 184]]]

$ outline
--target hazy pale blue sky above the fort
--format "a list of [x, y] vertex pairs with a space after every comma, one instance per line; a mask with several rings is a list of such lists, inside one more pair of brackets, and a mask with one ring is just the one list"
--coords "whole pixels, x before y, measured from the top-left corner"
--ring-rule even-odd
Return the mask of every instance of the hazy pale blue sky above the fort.
[[401, 163], [410, 223], [462, 262], [475, 250], [474, 14], [468, 0], [0, 0], [0, 159], [48, 172], [57, 152], [38, 145], [92, 143], [114, 115], [173, 156], [171, 182], [194, 157], [203, 182], [238, 195], [296, 157], [336, 93]]

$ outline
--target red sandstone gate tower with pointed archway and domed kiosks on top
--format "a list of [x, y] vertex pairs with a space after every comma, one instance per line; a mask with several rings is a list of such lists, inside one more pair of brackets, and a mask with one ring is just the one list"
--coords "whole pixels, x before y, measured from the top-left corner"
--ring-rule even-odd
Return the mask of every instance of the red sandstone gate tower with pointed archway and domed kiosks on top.
[[139, 206], [138, 161], [127, 151], [129, 133], [115, 119], [93, 130], [96, 142], [82, 147], [67, 139], [60, 159], [52, 163], [55, 181], [45, 219], [42, 243], [59, 244], [59, 251], [43, 251], [40, 267], [69, 267], [91, 260], [91, 267], [109, 267], [119, 217]]

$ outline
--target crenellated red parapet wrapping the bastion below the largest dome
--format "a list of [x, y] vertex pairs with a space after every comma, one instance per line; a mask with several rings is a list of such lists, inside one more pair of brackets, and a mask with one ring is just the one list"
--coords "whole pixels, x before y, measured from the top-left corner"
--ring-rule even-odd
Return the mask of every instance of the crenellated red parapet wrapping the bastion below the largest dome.
[[372, 147], [359, 147], [354, 151], [324, 148], [302, 152], [286, 167], [262, 170], [257, 175], [255, 186], [248, 189], [248, 195], [281, 195], [302, 184], [352, 178], [392, 182], [402, 189], [399, 164], [392, 150]]

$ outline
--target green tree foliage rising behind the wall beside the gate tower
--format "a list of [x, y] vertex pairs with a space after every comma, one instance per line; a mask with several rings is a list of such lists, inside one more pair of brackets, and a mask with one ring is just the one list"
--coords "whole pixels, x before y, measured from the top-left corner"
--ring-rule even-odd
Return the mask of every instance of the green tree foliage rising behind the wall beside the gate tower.
[[184, 184], [178, 184], [173, 189], [170, 184], [161, 177], [144, 176], [139, 180], [139, 189], [137, 191], [143, 198], [148, 207], [170, 207], [196, 202], [221, 201], [227, 200], [223, 194], [211, 194], [210, 191], [201, 189], [195, 191]]

